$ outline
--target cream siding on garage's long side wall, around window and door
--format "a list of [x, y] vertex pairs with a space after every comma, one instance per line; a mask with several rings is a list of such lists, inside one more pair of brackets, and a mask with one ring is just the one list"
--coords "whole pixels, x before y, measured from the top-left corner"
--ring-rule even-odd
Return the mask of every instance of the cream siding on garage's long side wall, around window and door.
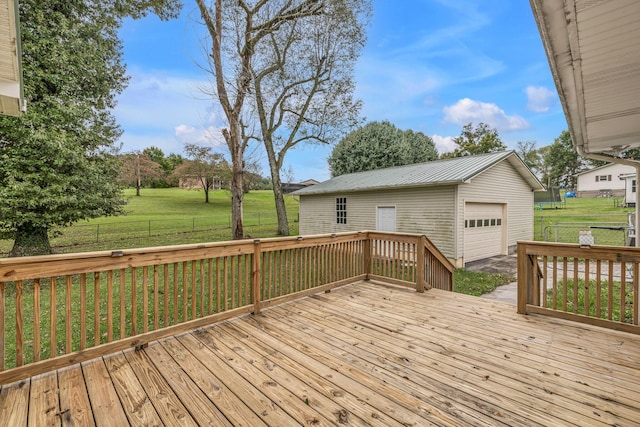
[[[336, 197], [347, 198], [347, 224], [336, 223]], [[376, 208], [395, 206], [397, 231], [425, 234], [454, 258], [455, 186], [300, 196], [300, 234], [376, 229]]]

